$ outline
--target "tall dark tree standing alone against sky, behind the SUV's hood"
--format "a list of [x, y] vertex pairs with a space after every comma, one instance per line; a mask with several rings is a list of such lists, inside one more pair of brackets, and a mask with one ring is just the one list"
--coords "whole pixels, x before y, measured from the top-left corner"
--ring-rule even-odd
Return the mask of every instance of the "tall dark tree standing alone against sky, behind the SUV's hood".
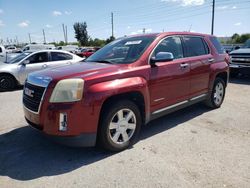
[[87, 23], [86, 22], [76, 22], [74, 23], [74, 30], [75, 30], [75, 38], [80, 43], [81, 46], [88, 45], [88, 31], [87, 31]]

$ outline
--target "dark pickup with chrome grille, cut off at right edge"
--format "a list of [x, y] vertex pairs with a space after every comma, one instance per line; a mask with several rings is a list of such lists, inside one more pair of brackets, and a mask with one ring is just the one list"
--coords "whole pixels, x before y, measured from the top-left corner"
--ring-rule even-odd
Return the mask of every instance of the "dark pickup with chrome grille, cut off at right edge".
[[239, 73], [250, 74], [250, 39], [242, 48], [230, 52], [230, 76], [235, 77]]

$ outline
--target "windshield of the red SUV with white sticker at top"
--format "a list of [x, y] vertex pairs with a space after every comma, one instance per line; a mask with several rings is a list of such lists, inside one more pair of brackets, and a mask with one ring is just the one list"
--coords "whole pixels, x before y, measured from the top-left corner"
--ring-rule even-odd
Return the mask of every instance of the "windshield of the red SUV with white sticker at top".
[[154, 36], [126, 37], [98, 50], [86, 62], [128, 64], [135, 62], [155, 39]]

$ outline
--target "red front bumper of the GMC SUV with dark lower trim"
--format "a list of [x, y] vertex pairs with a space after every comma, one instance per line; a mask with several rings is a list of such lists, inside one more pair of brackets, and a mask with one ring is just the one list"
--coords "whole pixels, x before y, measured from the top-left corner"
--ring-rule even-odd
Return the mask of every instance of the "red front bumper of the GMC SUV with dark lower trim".
[[[98, 118], [92, 107], [75, 105], [43, 105], [39, 114], [24, 107], [25, 119], [33, 128], [51, 140], [73, 147], [95, 146]], [[60, 130], [60, 114], [67, 114], [67, 128]]]

